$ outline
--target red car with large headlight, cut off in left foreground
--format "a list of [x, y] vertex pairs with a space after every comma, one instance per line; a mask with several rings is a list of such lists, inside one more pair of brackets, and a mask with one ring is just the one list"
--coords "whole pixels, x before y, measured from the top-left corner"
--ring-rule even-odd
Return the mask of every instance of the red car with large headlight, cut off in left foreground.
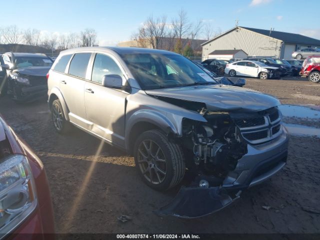
[[52, 238], [50, 191], [40, 159], [0, 117], [0, 239]]

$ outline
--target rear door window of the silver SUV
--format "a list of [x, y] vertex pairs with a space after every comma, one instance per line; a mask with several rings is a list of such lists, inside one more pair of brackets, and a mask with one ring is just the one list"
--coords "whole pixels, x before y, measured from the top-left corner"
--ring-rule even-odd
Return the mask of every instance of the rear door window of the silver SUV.
[[70, 66], [69, 66], [69, 74], [85, 78], [86, 68], [89, 63], [91, 53], [75, 53]]

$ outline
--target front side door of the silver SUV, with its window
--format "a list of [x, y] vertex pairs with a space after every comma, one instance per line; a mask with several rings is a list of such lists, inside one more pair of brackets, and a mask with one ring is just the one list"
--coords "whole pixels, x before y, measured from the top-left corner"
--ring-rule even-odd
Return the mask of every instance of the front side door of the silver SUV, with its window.
[[84, 102], [86, 118], [91, 122], [90, 131], [100, 137], [124, 146], [125, 98], [127, 92], [102, 85], [107, 74], [125, 77], [122, 67], [112, 55], [96, 53], [92, 65], [91, 81], [85, 82]]

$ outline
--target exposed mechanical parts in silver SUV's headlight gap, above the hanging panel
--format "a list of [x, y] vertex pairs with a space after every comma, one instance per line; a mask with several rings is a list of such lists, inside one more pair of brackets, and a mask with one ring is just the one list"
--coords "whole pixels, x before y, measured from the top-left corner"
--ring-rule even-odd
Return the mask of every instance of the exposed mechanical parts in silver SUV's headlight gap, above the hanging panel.
[[206, 123], [183, 121], [183, 146], [193, 155], [186, 159], [186, 165], [196, 175], [214, 176], [207, 178], [210, 186], [220, 185], [235, 169], [237, 160], [247, 153], [247, 143], [227, 112], [201, 108], [199, 113]]

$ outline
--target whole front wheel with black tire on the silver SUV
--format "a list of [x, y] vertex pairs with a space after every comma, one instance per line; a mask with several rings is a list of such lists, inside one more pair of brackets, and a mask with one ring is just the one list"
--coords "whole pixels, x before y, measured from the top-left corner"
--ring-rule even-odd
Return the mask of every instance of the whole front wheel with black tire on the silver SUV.
[[156, 190], [172, 188], [184, 176], [185, 163], [180, 146], [159, 130], [142, 132], [135, 141], [133, 155], [138, 174]]

